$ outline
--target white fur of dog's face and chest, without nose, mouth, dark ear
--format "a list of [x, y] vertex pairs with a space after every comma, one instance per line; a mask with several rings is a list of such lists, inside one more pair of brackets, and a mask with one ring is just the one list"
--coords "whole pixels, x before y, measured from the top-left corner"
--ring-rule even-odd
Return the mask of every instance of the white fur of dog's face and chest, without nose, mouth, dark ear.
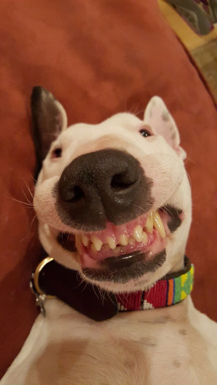
[[[154, 136], [140, 136], [144, 124], [151, 126]], [[174, 204], [184, 212], [180, 228], [167, 240], [165, 263], [144, 275], [137, 290], [144, 289], [143, 279], [151, 286], [165, 273], [182, 268], [191, 222], [190, 186], [185, 152], [163, 101], [150, 101], [145, 123], [131, 114], [117, 114], [98, 125], [76, 124], [61, 133], [51, 151], [59, 144], [62, 158], [51, 160], [47, 155], [35, 189], [39, 236], [47, 253], [81, 272], [79, 255], [63, 250], [55, 240], [57, 231], [68, 228], [57, 215], [50, 191], [75, 157], [109, 144], [130, 152], [153, 179], [154, 208]], [[134, 285], [95, 283], [112, 291], [133, 290]], [[47, 317], [38, 316], [1, 385], [217, 384], [217, 326], [194, 308], [190, 296], [168, 308], [119, 313], [103, 322], [56, 299], [47, 300], [45, 308]]]

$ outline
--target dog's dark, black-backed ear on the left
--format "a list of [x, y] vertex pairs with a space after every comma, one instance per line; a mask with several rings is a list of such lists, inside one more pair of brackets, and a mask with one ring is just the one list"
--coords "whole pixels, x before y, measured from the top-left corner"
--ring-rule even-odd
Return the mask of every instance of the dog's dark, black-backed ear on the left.
[[35, 179], [50, 144], [67, 128], [67, 115], [54, 96], [43, 87], [34, 87], [31, 96], [32, 136], [36, 154]]

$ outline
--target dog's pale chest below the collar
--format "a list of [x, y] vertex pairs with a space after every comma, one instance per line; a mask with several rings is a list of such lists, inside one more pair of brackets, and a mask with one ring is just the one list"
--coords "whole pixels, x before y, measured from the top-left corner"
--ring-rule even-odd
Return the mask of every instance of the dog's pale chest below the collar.
[[20, 383], [16, 377], [17, 384], [217, 383], [212, 364], [217, 352], [210, 341], [206, 344], [168, 309], [119, 314], [101, 323], [56, 300], [49, 310], [45, 320], [35, 322], [17, 357], [22, 377]]

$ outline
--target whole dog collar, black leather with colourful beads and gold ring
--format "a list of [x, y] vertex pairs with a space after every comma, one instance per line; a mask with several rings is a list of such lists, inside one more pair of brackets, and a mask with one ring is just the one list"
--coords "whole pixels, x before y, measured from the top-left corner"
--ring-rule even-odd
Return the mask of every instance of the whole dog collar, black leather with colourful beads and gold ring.
[[44, 258], [32, 274], [30, 287], [35, 295], [36, 305], [45, 316], [45, 298], [59, 298], [75, 310], [103, 321], [119, 311], [148, 310], [174, 305], [184, 300], [192, 291], [194, 266], [185, 256], [184, 268], [167, 274], [146, 291], [133, 293], [107, 293], [81, 280], [77, 271], [67, 269]]

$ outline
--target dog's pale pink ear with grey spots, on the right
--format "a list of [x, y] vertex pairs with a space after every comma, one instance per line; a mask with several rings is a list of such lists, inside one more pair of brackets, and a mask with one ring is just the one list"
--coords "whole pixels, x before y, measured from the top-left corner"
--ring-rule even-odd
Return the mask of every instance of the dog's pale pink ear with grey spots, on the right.
[[159, 96], [154, 96], [148, 103], [144, 121], [153, 132], [161, 135], [182, 159], [186, 158], [186, 152], [179, 146], [180, 136], [177, 125], [167, 109], [167, 106]]

